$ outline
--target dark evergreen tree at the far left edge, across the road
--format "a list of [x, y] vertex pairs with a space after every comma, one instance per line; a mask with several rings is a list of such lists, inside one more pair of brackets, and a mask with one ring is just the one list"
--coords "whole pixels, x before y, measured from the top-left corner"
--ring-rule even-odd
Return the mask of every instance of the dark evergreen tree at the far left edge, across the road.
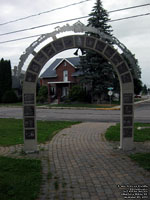
[[5, 92], [12, 89], [11, 64], [9, 60], [0, 60], [0, 102]]

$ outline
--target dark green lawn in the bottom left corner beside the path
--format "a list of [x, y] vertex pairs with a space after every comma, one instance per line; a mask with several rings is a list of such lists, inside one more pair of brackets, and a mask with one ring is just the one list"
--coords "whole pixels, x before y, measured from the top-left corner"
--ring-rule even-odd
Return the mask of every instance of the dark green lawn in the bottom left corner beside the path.
[[35, 200], [41, 184], [41, 161], [0, 156], [0, 199]]

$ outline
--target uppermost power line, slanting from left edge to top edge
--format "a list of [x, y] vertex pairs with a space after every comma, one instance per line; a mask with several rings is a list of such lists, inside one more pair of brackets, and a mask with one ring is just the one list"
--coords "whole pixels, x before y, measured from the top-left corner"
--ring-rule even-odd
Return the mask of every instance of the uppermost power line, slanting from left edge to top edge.
[[29, 18], [36, 17], [36, 16], [39, 16], [39, 15], [47, 14], [47, 13], [54, 12], [56, 10], [61, 10], [61, 9], [64, 9], [64, 8], [68, 8], [68, 7], [71, 7], [71, 6], [76, 6], [78, 4], [82, 4], [82, 3], [85, 3], [87, 1], [91, 1], [91, 0], [80, 1], [80, 2], [77, 2], [77, 3], [62, 6], [62, 7], [59, 7], [59, 8], [54, 8], [54, 9], [43, 11], [43, 12], [40, 12], [40, 13], [37, 13], [37, 14], [29, 15], [27, 17], [22, 17], [22, 18], [15, 19], [15, 20], [12, 20], [12, 21], [4, 22], [4, 23], [1, 23], [0, 26], [10, 24], [10, 23], [13, 23], [13, 22], [18, 22], [18, 21], [25, 20], [25, 19], [29, 19]]

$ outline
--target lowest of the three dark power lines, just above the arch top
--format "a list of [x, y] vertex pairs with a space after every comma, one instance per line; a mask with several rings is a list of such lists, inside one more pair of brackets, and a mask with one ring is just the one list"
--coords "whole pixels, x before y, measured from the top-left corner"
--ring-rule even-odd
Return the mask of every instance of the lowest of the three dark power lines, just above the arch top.
[[[126, 19], [131, 19], [131, 18], [136, 18], [136, 17], [143, 17], [143, 16], [148, 16], [148, 15], [150, 15], [150, 13], [145, 13], [145, 14], [141, 14], [141, 15], [134, 15], [134, 16], [124, 17], [124, 18], [120, 18], [120, 19], [114, 19], [114, 20], [110, 20], [110, 22], [126, 20]], [[87, 17], [89, 17], [89, 16], [74, 18], [74, 19], [65, 20], [65, 21], [62, 21], [62, 22], [55, 22], [55, 24], [56, 23], [58, 24], [58, 23], [73, 21], [73, 20], [77, 20], [77, 19], [83, 19], [83, 18], [87, 18]], [[44, 33], [44, 34], [46, 34], [46, 33]], [[15, 42], [15, 41], [19, 41], [19, 40], [25, 40], [25, 39], [29, 39], [29, 38], [33, 38], [33, 37], [38, 37], [38, 36], [41, 36], [41, 35], [43, 35], [43, 34], [32, 35], [32, 36], [27, 36], [27, 37], [23, 37], [23, 38], [17, 38], [17, 39], [13, 39], [13, 40], [6, 40], [6, 41], [3, 41], [3, 42], [0, 42], [0, 44], [9, 43], [9, 42]]]

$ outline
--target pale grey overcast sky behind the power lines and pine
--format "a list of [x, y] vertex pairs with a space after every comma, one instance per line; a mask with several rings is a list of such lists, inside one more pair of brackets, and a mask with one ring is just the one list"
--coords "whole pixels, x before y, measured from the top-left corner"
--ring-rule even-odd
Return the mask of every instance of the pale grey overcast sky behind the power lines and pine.
[[[0, 24], [81, 1], [83, 0], [0, 0]], [[96, 0], [89, 0], [78, 5], [70, 6], [47, 14], [38, 15], [26, 20], [0, 25], [0, 34], [86, 16], [91, 12], [95, 2]], [[150, 3], [150, 0], [103, 0], [102, 2], [103, 7], [107, 11], [111, 11], [130, 6], [147, 4]], [[150, 13], [150, 5], [141, 8], [110, 13], [109, 17], [113, 20], [144, 13]], [[87, 19], [82, 19], [80, 21], [85, 25], [87, 24]], [[75, 22], [76, 21], [71, 21], [67, 23], [72, 25]], [[26, 32], [0, 36], [0, 42], [52, 32], [54, 31], [55, 27], [61, 27], [65, 24], [66, 23], [61, 23], [58, 25], [47, 26]], [[135, 57], [138, 59], [139, 65], [142, 69], [142, 82], [150, 87], [150, 15], [111, 22], [110, 24], [112, 26], [114, 36], [117, 37], [120, 42], [122, 42], [133, 54], [135, 54]], [[37, 38], [30, 38], [21, 41], [0, 44], [0, 58], [3, 57], [4, 59], [11, 60], [12, 68], [15, 65], [17, 66], [20, 55], [36, 39]], [[73, 56], [73, 51], [65, 51], [55, 56], [53, 60], [56, 57], [70, 56]], [[26, 69], [26, 66], [24, 66], [24, 69]]]

